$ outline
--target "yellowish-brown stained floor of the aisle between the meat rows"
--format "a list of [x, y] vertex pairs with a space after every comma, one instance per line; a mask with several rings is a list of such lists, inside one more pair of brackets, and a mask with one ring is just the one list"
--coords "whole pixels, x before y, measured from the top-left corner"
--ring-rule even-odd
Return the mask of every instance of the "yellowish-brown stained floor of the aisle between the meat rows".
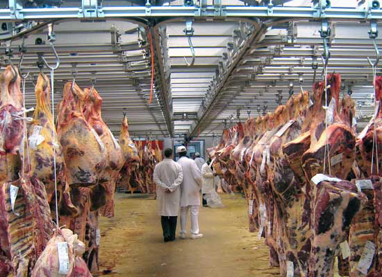
[[107, 276], [279, 276], [268, 265], [263, 239], [247, 231], [247, 204], [240, 195], [224, 195], [225, 208], [201, 208], [204, 238], [167, 243], [152, 197], [116, 197], [115, 217], [100, 218], [99, 260]]

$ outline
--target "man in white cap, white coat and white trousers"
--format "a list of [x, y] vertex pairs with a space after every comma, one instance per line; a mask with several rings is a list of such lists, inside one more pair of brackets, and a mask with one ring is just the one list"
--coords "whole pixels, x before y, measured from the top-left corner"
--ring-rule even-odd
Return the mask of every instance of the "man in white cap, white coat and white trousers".
[[191, 214], [191, 238], [203, 238], [199, 233], [198, 214], [200, 208], [200, 190], [202, 186], [201, 172], [194, 160], [189, 159], [184, 146], [176, 149], [180, 159], [178, 163], [182, 166], [183, 181], [181, 184], [181, 238], [185, 238], [185, 225], [187, 215]]

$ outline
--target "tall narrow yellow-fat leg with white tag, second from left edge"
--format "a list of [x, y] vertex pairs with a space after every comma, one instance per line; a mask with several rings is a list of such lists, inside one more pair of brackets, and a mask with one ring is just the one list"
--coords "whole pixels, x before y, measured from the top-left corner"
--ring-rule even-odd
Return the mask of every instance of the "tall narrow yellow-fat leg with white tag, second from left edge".
[[63, 151], [60, 143], [58, 143], [56, 127], [53, 123], [49, 93], [49, 80], [43, 73], [40, 73], [35, 85], [37, 105], [28, 130], [28, 148], [26, 150], [29, 151], [29, 157], [24, 160], [30, 162], [33, 177], [44, 183], [53, 213], [56, 211], [54, 199], [54, 162], [56, 161], [58, 204], [60, 205], [60, 212], [68, 215], [76, 213], [76, 208], [70, 201], [69, 186], [65, 181]]

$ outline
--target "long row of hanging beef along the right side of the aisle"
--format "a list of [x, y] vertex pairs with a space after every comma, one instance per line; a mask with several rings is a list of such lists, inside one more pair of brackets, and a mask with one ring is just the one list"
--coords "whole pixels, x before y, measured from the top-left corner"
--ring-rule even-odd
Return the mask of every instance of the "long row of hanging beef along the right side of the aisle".
[[225, 129], [208, 150], [215, 171], [242, 186], [249, 229], [281, 276], [382, 276], [382, 77], [375, 113], [356, 134], [355, 102], [339, 74], [274, 113]]

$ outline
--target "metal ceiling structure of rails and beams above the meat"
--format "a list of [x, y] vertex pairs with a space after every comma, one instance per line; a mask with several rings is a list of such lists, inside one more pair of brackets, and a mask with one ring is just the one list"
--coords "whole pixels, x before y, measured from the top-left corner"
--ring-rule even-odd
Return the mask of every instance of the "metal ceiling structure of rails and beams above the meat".
[[326, 42], [328, 72], [341, 73], [342, 92], [352, 93], [361, 125], [371, 116], [367, 57], [376, 55], [369, 31], [381, 43], [379, 1], [193, 2], [1, 1], [3, 64], [9, 57], [17, 64], [23, 53], [22, 71], [30, 72], [26, 105], [33, 106], [39, 55], [55, 63], [46, 38], [53, 24], [61, 62], [56, 101], [75, 77], [80, 87], [99, 91], [103, 119], [115, 134], [126, 111], [133, 136], [197, 137], [219, 135], [223, 122], [273, 111], [291, 93], [311, 91], [322, 78]]

